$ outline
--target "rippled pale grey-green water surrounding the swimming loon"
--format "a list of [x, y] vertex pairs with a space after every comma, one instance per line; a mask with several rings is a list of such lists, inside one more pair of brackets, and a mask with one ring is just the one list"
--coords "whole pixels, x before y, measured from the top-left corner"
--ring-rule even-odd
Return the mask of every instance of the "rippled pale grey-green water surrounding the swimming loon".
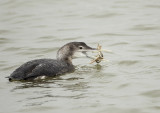
[[[112, 50], [74, 73], [9, 82], [71, 41]], [[0, 113], [159, 113], [160, 0], [1, 0]]]

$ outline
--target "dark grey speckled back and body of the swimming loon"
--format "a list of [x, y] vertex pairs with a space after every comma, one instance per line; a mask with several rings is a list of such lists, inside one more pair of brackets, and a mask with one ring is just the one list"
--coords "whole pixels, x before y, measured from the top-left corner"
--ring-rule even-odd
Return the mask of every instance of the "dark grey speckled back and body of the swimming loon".
[[56, 76], [74, 71], [74, 66], [62, 60], [38, 59], [24, 63], [9, 77], [9, 80], [28, 80], [39, 76]]

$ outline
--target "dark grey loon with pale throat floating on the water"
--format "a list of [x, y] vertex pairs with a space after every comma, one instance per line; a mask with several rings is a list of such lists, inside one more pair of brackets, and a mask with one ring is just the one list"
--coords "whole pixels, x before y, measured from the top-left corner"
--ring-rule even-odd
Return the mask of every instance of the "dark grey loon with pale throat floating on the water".
[[94, 51], [84, 42], [70, 42], [57, 52], [57, 59], [36, 59], [28, 61], [17, 68], [9, 77], [9, 81], [34, 80], [38, 77], [55, 77], [75, 70], [72, 59], [89, 57], [87, 51]]

